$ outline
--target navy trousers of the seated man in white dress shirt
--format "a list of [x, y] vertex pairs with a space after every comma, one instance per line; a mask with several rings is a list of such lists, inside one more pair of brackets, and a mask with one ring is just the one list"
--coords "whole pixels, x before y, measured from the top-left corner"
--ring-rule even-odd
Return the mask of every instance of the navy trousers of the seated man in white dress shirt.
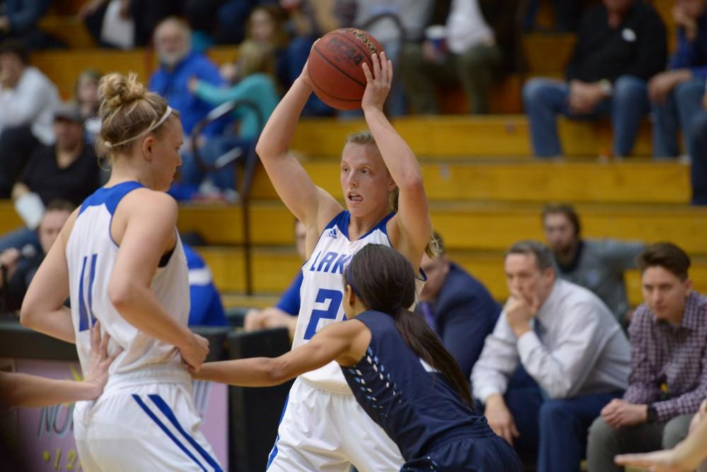
[[504, 399], [520, 433], [515, 450], [524, 461], [537, 457], [537, 472], [579, 472], [588, 428], [622, 393], [544, 399], [538, 387], [509, 389]]

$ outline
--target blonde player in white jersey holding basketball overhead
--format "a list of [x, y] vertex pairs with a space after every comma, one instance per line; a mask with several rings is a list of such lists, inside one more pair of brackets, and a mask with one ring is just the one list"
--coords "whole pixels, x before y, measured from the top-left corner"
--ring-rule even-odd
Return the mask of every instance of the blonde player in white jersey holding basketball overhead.
[[[327, 324], [344, 319], [341, 274], [352, 254], [370, 243], [395, 247], [414, 267], [431, 238], [431, 221], [420, 167], [407, 143], [383, 114], [392, 64], [373, 54], [363, 64], [361, 100], [370, 133], [349, 136], [341, 153], [346, 210], [317, 187], [288, 154], [298, 117], [312, 93], [305, 65], [271, 115], [256, 151], [280, 198], [307, 228], [308, 261], [302, 267], [300, 312], [293, 347], [307, 343]], [[389, 197], [399, 191], [397, 213]], [[402, 456], [371, 420], [335, 362], [303, 374], [286, 402], [268, 471], [398, 471]]]

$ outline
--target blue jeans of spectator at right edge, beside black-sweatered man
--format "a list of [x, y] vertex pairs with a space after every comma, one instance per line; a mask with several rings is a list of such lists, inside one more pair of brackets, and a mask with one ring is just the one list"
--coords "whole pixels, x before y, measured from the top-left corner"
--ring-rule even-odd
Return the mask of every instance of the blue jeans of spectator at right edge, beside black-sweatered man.
[[687, 137], [691, 117], [702, 109], [705, 81], [694, 79], [679, 83], [668, 95], [665, 103], [652, 102], [653, 156], [675, 158], [680, 155], [677, 144], [678, 131], [682, 129], [685, 151], [692, 155], [691, 141]]

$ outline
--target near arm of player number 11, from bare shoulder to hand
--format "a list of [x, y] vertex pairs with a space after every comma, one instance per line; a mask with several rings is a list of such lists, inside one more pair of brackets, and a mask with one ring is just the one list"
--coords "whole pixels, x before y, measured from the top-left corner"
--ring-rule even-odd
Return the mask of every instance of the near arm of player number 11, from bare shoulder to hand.
[[161, 257], [176, 244], [176, 223], [177, 202], [167, 194], [138, 189], [125, 196], [112, 223], [120, 249], [108, 296], [129, 324], [173, 344], [187, 364], [198, 368], [209, 352], [209, 342], [170, 317], [150, 288]]

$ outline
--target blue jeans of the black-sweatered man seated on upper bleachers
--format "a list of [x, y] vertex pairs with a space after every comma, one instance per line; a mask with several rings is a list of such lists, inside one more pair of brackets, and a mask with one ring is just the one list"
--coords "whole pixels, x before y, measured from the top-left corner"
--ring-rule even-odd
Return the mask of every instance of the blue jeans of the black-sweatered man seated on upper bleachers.
[[589, 114], [573, 114], [569, 109], [569, 84], [547, 78], [532, 78], [523, 85], [525, 113], [530, 120], [533, 153], [539, 158], [562, 155], [557, 135], [556, 115], [571, 119], [597, 120], [610, 116], [614, 132], [614, 155], [631, 154], [641, 118], [648, 113], [646, 82], [633, 76], [621, 76], [614, 83], [612, 98], [602, 100]]

